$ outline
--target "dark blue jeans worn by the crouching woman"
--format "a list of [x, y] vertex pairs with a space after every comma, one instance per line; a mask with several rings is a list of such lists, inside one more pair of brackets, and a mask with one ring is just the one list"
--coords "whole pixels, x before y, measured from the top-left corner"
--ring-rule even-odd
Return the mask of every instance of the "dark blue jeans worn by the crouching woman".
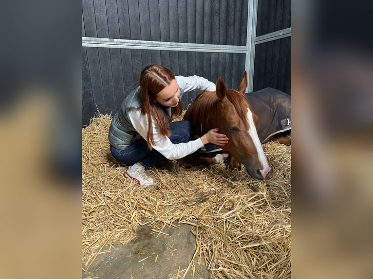
[[[171, 123], [171, 136], [169, 136], [169, 139], [172, 143], [188, 142], [190, 140], [190, 134], [190, 121], [177, 121]], [[133, 165], [134, 163], [139, 162], [145, 168], [150, 168], [154, 163], [165, 158], [155, 149], [150, 151], [148, 143], [143, 138], [132, 142], [125, 150], [117, 149], [110, 145], [110, 151], [115, 159], [126, 165]]]

